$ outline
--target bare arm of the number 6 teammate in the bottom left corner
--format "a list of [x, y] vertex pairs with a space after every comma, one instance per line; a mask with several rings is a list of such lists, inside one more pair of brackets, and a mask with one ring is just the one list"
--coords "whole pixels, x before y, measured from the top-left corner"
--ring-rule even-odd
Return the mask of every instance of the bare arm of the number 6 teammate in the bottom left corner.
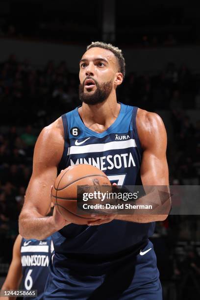
[[[17, 290], [22, 280], [22, 263], [21, 263], [21, 245], [22, 237], [18, 235], [13, 246], [12, 261], [8, 270], [8, 275], [2, 285], [2, 290]], [[2, 300], [15, 300], [16, 297], [3, 297]]]

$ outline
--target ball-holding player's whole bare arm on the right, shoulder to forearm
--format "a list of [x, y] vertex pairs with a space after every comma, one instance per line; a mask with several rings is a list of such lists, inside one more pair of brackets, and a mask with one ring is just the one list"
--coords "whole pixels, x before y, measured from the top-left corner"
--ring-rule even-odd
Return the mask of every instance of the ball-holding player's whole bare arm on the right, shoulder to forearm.
[[[155, 113], [139, 109], [136, 124], [143, 148], [141, 161], [142, 184], [143, 186], [161, 185], [163, 186], [163, 191], [167, 192], [167, 186], [169, 185], [169, 172], [166, 158], [167, 134], [162, 119]], [[170, 205], [171, 202], [168, 200], [165, 203], [165, 212], [169, 212]], [[163, 221], [167, 216], [167, 214], [156, 214], [154, 212], [151, 215], [118, 215], [116, 219], [148, 223]]]

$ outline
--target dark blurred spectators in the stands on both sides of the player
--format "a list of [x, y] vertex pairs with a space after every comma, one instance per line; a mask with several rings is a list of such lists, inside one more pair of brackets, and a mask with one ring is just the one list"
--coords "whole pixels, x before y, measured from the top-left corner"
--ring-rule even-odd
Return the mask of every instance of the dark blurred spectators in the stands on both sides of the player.
[[[19, 62], [12, 54], [0, 63], [0, 240], [4, 245], [0, 247], [0, 262], [9, 262], [11, 258], [8, 249], [18, 233], [18, 217], [32, 172], [37, 136], [42, 127], [80, 105], [78, 83], [78, 76], [69, 72], [65, 61], [58, 66], [49, 61], [44, 68], [36, 69], [29, 61]], [[173, 127], [173, 139], [167, 150], [170, 183], [200, 184], [200, 120], [194, 123], [187, 114], [188, 109], [200, 110], [200, 75], [192, 74], [185, 65], [177, 68], [169, 63], [159, 74], [126, 75], [117, 94], [118, 100], [125, 104], [170, 114]], [[200, 277], [199, 254], [188, 257], [185, 251], [182, 260], [175, 256], [177, 238], [188, 241], [200, 238], [199, 218], [187, 223], [188, 218], [170, 216], [165, 222], [157, 223], [153, 237], [161, 276], [166, 282], [175, 278], [178, 293], [182, 290], [181, 276], [184, 282], [195, 285]], [[169, 257], [168, 273], [163, 257]], [[188, 264], [191, 270], [186, 276]], [[171, 283], [166, 285], [166, 293], [177, 289]]]

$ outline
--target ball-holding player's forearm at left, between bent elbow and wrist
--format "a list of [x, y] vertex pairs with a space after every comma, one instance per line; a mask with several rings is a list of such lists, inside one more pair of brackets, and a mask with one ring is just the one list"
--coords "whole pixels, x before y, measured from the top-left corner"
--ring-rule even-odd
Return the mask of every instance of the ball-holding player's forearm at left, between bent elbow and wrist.
[[36, 211], [24, 211], [20, 215], [19, 232], [25, 239], [43, 240], [56, 231], [52, 216], [44, 217]]

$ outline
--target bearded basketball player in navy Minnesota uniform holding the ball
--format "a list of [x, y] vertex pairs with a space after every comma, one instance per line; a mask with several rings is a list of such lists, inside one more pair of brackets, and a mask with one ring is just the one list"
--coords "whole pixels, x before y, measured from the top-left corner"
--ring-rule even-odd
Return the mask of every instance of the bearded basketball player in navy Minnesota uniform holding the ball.
[[169, 184], [161, 118], [117, 101], [125, 76], [122, 51], [94, 42], [79, 65], [82, 106], [45, 127], [36, 142], [20, 233], [27, 239], [52, 235], [55, 255], [46, 300], [161, 300], [148, 238], [154, 221], [167, 214], [97, 215], [88, 225], [70, 224], [56, 209], [45, 217], [57, 173], [75, 164], [98, 166], [119, 185]]

